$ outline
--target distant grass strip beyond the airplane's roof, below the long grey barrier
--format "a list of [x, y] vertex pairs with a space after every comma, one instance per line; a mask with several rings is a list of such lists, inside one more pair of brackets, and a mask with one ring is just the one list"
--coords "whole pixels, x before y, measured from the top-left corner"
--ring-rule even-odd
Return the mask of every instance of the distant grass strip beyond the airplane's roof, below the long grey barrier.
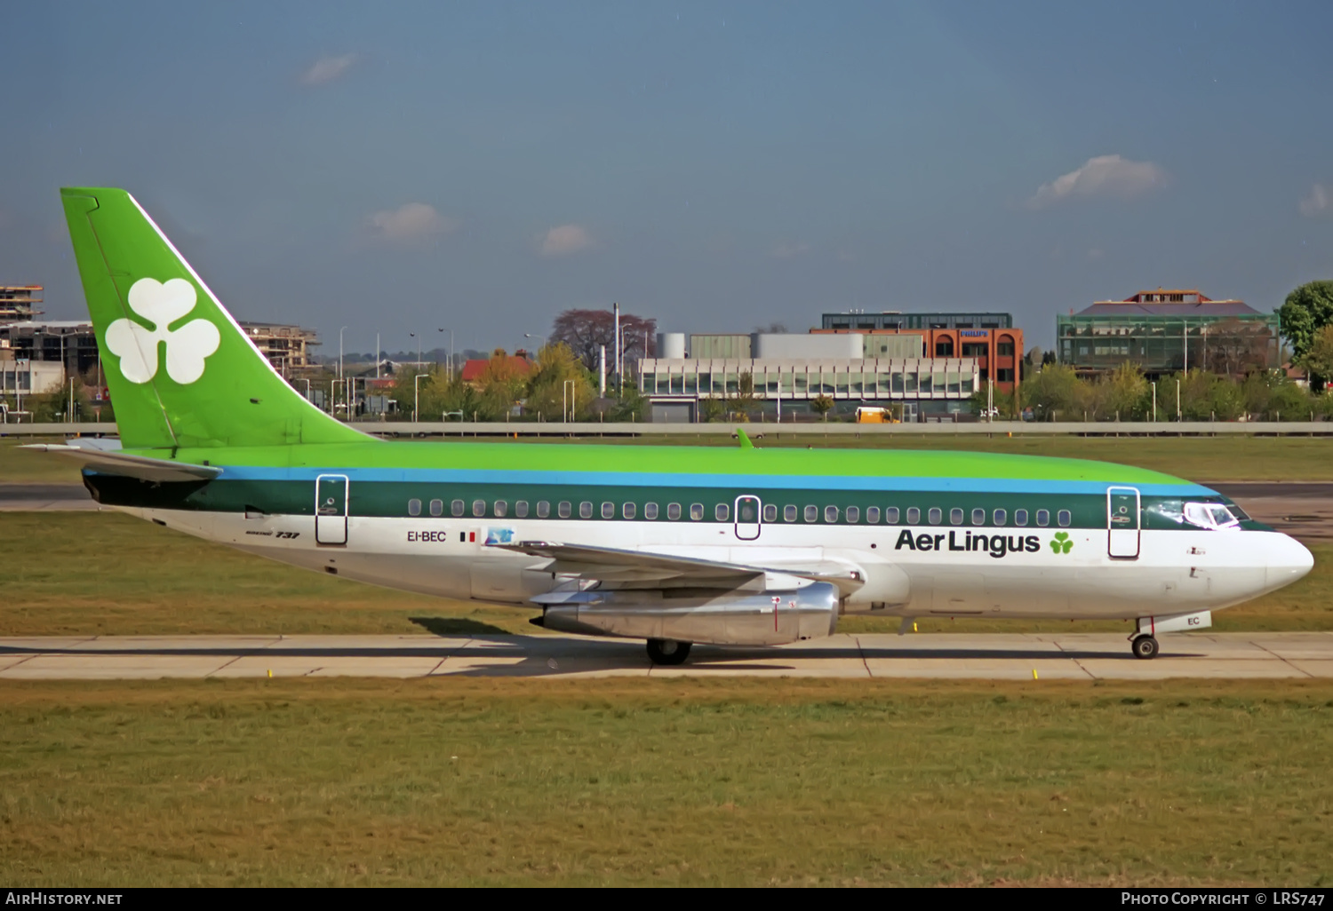
[[[1022, 456], [1064, 456], [1094, 458], [1168, 471], [1193, 481], [1333, 481], [1333, 440], [1317, 437], [994, 437], [982, 436], [892, 436], [892, 437], [780, 437], [773, 425], [752, 425], [765, 434], [760, 446], [946, 449]], [[456, 442], [456, 440], [453, 440]], [[472, 438], [465, 438], [472, 442]], [[19, 449], [21, 441], [0, 441], [0, 483], [77, 483], [79, 474], [65, 459]], [[40, 442], [40, 441], [35, 441]], [[57, 441], [47, 441], [57, 442]], [[483, 440], [481, 442], [485, 442]], [[491, 441], [496, 442], [496, 441]], [[523, 446], [533, 438], [509, 441]], [[541, 442], [612, 445], [717, 445], [734, 446], [726, 437], [651, 437], [643, 440], [544, 440]]]

